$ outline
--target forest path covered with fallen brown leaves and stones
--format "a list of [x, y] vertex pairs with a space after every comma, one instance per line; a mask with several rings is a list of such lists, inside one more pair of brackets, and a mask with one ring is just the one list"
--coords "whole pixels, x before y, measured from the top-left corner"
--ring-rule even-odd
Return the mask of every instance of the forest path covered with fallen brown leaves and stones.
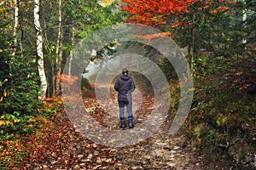
[[[106, 90], [102, 87], [102, 90]], [[108, 88], [108, 87], [107, 87]], [[114, 94], [114, 92], [111, 92]], [[135, 92], [137, 93], [137, 92]], [[117, 104], [114, 97], [113, 103]], [[135, 126], [139, 126], [152, 110], [152, 98], [141, 96], [140, 107], [134, 105]], [[137, 103], [138, 98], [134, 98]], [[102, 101], [101, 101], [102, 102]], [[108, 102], [102, 104], [103, 107]], [[104, 106], [105, 105], [105, 106]], [[84, 106], [90, 116], [103, 126], [119, 130], [119, 117], [107, 114], [95, 96], [86, 96]], [[112, 105], [110, 111], [118, 111]], [[109, 147], [84, 138], [70, 122], [66, 113], [60, 113], [38, 150], [41, 156], [32, 156], [27, 168], [33, 169], [207, 169], [201, 157], [192, 150], [189, 140], [181, 133], [168, 133], [171, 118], [166, 117], [161, 127], [148, 139], [125, 147]], [[124, 131], [129, 131], [128, 127]], [[40, 153], [40, 151], [39, 151]]]

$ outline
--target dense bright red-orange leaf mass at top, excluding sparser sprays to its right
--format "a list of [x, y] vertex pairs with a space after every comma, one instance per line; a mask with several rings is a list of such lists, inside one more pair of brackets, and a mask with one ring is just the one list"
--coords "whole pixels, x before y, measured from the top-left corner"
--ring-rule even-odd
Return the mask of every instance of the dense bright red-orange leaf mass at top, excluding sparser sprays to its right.
[[148, 26], [166, 24], [166, 17], [172, 14], [189, 12], [189, 5], [198, 0], [123, 0], [126, 5], [119, 6], [132, 16], [125, 20], [131, 23], [141, 23]]

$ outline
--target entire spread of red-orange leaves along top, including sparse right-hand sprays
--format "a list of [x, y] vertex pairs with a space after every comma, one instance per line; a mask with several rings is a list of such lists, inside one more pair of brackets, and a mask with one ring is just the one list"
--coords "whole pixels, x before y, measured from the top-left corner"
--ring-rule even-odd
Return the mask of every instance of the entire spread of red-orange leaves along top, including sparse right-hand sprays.
[[[183, 23], [179, 19], [184, 13], [189, 12], [189, 6], [195, 3], [200, 3], [201, 7], [197, 10], [203, 10], [213, 7], [218, 4], [216, 8], [212, 8], [210, 13], [222, 13], [230, 8], [228, 4], [237, 3], [237, 1], [229, 0], [122, 0], [125, 4], [119, 4], [122, 10], [131, 14], [131, 17], [124, 20], [125, 22], [143, 24], [147, 26], [169, 25], [172, 27], [189, 26], [192, 21]], [[172, 16], [176, 16], [176, 20], [170, 21]], [[171, 22], [171, 23], [170, 23]]]

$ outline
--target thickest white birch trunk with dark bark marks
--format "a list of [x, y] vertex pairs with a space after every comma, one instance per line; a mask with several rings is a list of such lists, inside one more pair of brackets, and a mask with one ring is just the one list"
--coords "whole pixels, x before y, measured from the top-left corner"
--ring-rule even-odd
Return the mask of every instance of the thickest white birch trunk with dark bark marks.
[[40, 0], [34, 1], [34, 25], [37, 31], [37, 54], [38, 54], [38, 73], [41, 82], [42, 94], [38, 95], [38, 99], [44, 99], [47, 90], [47, 80], [44, 71], [44, 54], [43, 54], [43, 36], [40, 25]]

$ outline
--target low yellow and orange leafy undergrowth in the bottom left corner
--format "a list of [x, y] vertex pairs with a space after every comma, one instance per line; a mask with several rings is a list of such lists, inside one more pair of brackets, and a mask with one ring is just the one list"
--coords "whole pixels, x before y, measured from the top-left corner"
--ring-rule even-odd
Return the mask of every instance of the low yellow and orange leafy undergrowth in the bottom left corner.
[[[44, 133], [52, 127], [52, 120], [57, 112], [63, 110], [62, 101], [58, 97], [45, 99], [44, 105], [37, 114], [19, 116], [1, 116], [0, 121], [0, 167], [26, 167], [26, 162], [33, 148], [38, 147]], [[9, 122], [9, 123], [6, 123]]]

